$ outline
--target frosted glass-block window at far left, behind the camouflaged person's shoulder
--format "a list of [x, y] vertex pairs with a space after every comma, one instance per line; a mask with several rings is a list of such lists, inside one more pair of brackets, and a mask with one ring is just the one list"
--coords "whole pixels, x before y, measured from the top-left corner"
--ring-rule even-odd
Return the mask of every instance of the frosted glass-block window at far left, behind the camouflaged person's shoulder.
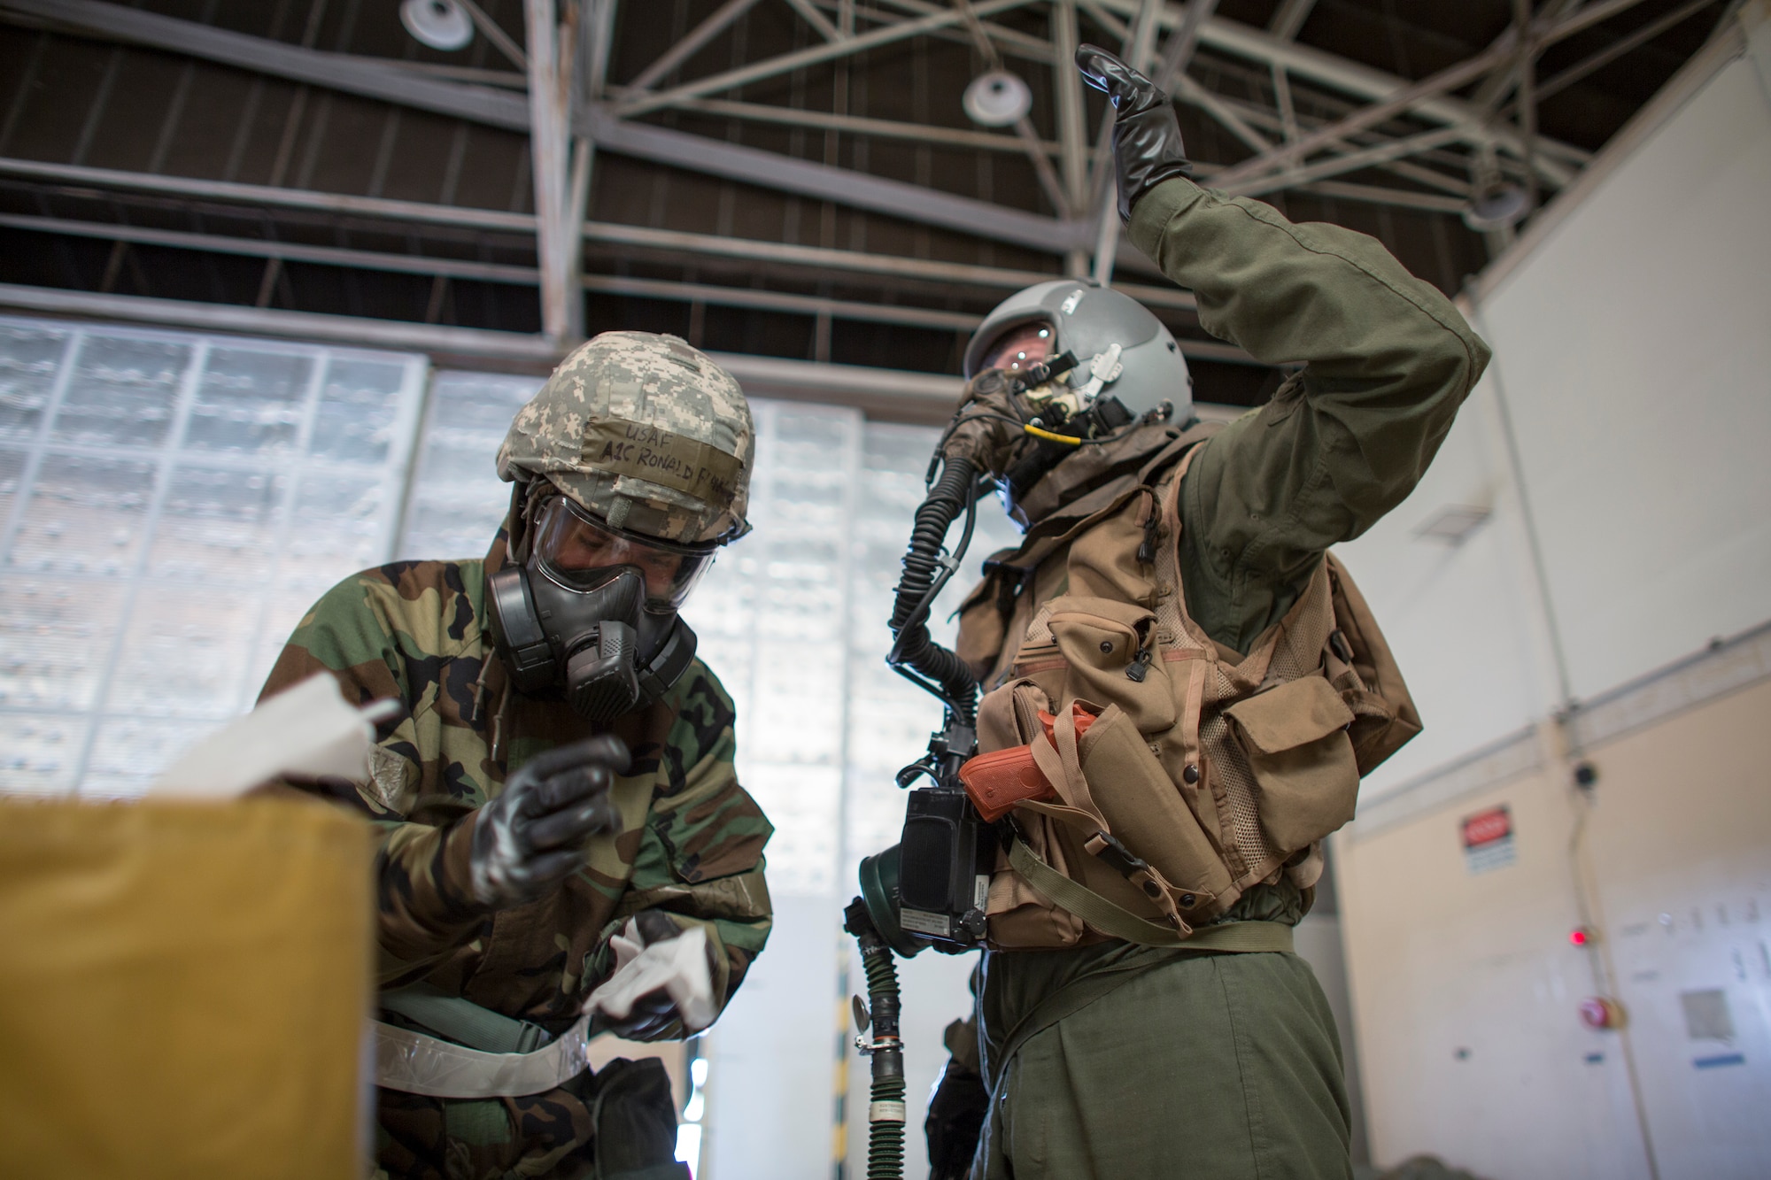
[[129, 796], [384, 562], [418, 356], [0, 317], [0, 790]]

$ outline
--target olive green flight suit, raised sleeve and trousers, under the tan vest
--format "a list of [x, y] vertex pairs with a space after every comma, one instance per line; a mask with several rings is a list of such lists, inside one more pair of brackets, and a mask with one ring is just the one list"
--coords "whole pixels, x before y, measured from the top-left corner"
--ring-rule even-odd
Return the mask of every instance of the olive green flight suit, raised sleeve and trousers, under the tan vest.
[[[1247, 652], [1420, 480], [1489, 351], [1374, 239], [1293, 225], [1187, 179], [1146, 193], [1130, 237], [1199, 298], [1199, 322], [1307, 367], [1203, 443], [1181, 485], [1187, 609]], [[1224, 921], [1296, 923], [1288, 881]], [[974, 1180], [1348, 1176], [1341, 1044], [1291, 953], [1109, 941], [986, 951], [978, 999], [992, 1111]]]

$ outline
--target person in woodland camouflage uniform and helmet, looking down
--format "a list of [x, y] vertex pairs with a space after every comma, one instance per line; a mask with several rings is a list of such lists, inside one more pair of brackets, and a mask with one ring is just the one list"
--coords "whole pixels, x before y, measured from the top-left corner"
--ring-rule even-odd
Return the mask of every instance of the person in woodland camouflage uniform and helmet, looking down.
[[[365, 571], [329, 590], [296, 627], [266, 695], [324, 670], [351, 700], [404, 705], [383, 723], [363, 781], [299, 785], [383, 829], [384, 1021], [448, 1036], [386, 1010], [388, 996], [418, 987], [471, 1001], [512, 1028], [538, 1026], [531, 1031], [540, 1040], [556, 1036], [615, 969], [609, 939], [634, 916], [666, 937], [705, 930], [715, 1008], [744, 980], [769, 935], [762, 850], [772, 829], [737, 781], [731, 700], [692, 659], [692, 634], [673, 680], [639, 668], [652, 698], [641, 693], [625, 712], [592, 721], [567, 684], [560, 648], [572, 636], [549, 634], [549, 684], [517, 686], [512, 664], [521, 661], [489, 618], [489, 585], [503, 572], [508, 588], [515, 567], [526, 569], [537, 595], [544, 578], [560, 583], [549, 581], [549, 592], [568, 594], [602, 576], [595, 556], [568, 567], [563, 547], [549, 563], [538, 537], [553, 507], [577, 553], [588, 553], [584, 537], [611, 542], [618, 555], [607, 563], [645, 578], [645, 661], [648, 633], [678, 622], [675, 606], [712, 547], [746, 532], [753, 445], [744, 393], [703, 354], [673, 337], [606, 333], [568, 356], [517, 415], [498, 455], [499, 475], [517, 484], [512, 512], [483, 560]], [[677, 576], [678, 558], [692, 567], [687, 574]], [[629, 622], [638, 617], [636, 606]], [[505, 620], [507, 631], [517, 625]], [[524, 684], [533, 686], [533, 659], [526, 668]], [[533, 780], [545, 765], [535, 762], [540, 755], [599, 732], [625, 742], [630, 765], [586, 772], [595, 799], [579, 808], [574, 833], [593, 835], [556, 840], [581, 856], [567, 858], [561, 879], [530, 888], [522, 897], [531, 900], [489, 902], [480, 884], [482, 861], [496, 854], [489, 804], [507, 785], [515, 790], [524, 765], [533, 764]], [[653, 1019], [615, 1031], [682, 1036], [668, 1001], [655, 1008]], [[496, 1098], [381, 1090], [381, 1175], [687, 1175], [671, 1162], [675, 1111], [662, 1072], [650, 1065], [618, 1061], [545, 1093]]]

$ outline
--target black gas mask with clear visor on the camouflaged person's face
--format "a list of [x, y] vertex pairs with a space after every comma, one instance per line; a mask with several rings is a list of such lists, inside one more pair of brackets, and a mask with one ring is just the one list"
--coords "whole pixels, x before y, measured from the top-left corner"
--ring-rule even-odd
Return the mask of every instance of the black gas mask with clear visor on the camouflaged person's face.
[[538, 514], [528, 558], [485, 579], [492, 643], [517, 691], [563, 695], [595, 725], [664, 696], [694, 659], [677, 608], [712, 549], [609, 528], [565, 496]]

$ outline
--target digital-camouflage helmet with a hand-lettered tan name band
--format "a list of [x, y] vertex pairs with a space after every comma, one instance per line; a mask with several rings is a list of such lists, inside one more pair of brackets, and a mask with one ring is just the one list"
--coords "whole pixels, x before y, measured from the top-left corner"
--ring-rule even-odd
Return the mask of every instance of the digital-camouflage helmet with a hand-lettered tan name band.
[[744, 390], [684, 340], [606, 331], [517, 411], [498, 477], [540, 475], [609, 526], [677, 544], [749, 532], [756, 431]]

